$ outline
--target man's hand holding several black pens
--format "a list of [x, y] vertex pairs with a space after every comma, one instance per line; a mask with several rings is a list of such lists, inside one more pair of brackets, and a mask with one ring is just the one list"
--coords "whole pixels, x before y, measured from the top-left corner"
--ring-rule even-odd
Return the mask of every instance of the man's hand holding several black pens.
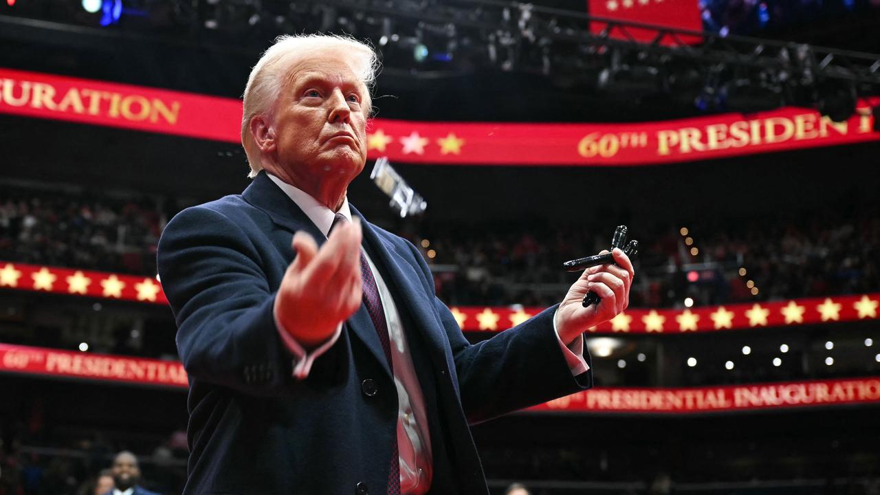
[[[608, 251], [602, 251], [605, 254]], [[612, 251], [617, 264], [604, 264], [583, 270], [581, 277], [568, 289], [556, 310], [556, 329], [562, 342], [568, 344], [590, 327], [608, 321], [629, 307], [629, 287], [635, 270], [629, 257], [617, 247]], [[583, 307], [583, 296], [596, 292], [598, 304]]]

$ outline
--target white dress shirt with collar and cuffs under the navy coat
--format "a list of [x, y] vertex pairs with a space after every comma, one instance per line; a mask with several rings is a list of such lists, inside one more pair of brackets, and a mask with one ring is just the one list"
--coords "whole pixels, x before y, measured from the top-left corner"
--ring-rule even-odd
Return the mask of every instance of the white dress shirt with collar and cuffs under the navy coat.
[[[319, 231], [327, 235], [333, 225], [335, 212], [321, 204], [301, 189], [295, 188], [272, 174], [268, 174], [275, 184], [284, 191], [287, 196], [312, 220]], [[345, 218], [351, 220], [351, 210], [348, 208], [348, 198], [342, 202], [339, 210]], [[394, 385], [397, 387], [398, 417], [397, 417], [397, 443], [400, 454], [400, 492], [406, 495], [422, 495], [428, 491], [432, 475], [432, 457], [430, 445], [430, 433], [428, 430], [428, 416], [425, 413], [425, 403], [422, 396], [422, 387], [415, 373], [413, 359], [409, 354], [406, 332], [400, 319], [397, 306], [394, 303], [387, 284], [377, 270], [376, 265], [361, 247], [362, 253], [370, 264], [370, 270], [376, 279], [379, 299], [385, 309], [385, 321], [388, 325], [388, 336], [391, 345], [392, 370]], [[337, 327], [334, 335], [326, 343], [319, 345], [312, 352], [306, 352], [302, 345], [290, 336], [282, 328], [280, 321], [275, 316], [275, 323], [282, 342], [294, 356], [294, 378], [302, 380], [308, 376], [312, 369], [312, 363], [329, 349], [341, 334], [342, 325]], [[554, 319], [555, 330], [555, 319]], [[565, 355], [568, 367], [573, 375], [586, 372], [589, 368], [583, 359], [583, 336], [578, 336], [571, 344], [563, 344], [559, 332], [556, 331], [562, 353]]]

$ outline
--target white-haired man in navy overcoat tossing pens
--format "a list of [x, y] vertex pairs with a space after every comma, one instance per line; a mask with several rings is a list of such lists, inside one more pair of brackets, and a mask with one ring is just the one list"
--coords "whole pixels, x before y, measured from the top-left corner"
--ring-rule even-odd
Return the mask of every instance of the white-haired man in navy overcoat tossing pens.
[[418, 250], [348, 203], [376, 67], [352, 39], [276, 41], [244, 95], [252, 184], [165, 228], [184, 493], [488, 493], [468, 425], [589, 388], [581, 334], [627, 307], [615, 249], [560, 305], [469, 344]]

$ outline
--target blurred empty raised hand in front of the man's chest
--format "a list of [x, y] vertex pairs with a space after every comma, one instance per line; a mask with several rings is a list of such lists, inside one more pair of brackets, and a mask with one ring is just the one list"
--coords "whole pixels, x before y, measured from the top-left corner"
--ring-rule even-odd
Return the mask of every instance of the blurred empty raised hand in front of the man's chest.
[[361, 305], [361, 236], [358, 218], [334, 227], [320, 248], [307, 233], [293, 236], [297, 257], [278, 288], [275, 316], [306, 349], [333, 336]]

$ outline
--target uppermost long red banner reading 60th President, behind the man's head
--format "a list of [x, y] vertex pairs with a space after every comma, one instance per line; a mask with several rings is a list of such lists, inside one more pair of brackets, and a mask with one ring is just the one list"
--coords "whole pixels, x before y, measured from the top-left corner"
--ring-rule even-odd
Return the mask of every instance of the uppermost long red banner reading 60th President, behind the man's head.
[[[638, 0], [636, 0], [638, 1]], [[880, 139], [869, 104], [835, 123], [786, 107], [666, 122], [498, 123], [374, 119], [369, 158], [497, 166], [677, 163]], [[238, 143], [241, 101], [0, 69], [0, 113]]]

